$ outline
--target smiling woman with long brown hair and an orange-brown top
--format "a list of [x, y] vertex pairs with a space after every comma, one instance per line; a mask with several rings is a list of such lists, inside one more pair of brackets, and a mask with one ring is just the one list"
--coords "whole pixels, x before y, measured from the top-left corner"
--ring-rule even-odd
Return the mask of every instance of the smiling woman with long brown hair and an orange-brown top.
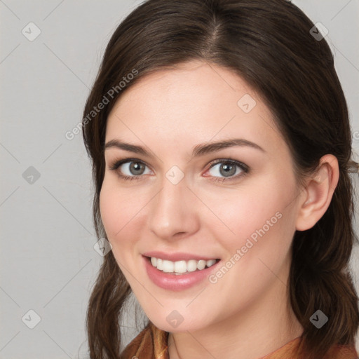
[[[285, 0], [149, 0], [83, 116], [104, 257], [90, 358], [354, 359], [348, 109]], [[133, 292], [149, 321], [122, 351]]]

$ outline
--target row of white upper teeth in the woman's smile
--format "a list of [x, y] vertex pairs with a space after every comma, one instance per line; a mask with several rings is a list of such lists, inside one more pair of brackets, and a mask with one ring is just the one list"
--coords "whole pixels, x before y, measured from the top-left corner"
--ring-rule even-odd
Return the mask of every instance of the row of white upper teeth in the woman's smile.
[[205, 269], [206, 266], [208, 268], [216, 262], [216, 259], [209, 259], [208, 261], [205, 261], [204, 259], [201, 259], [199, 261], [191, 259], [189, 261], [182, 260], [172, 262], [166, 259], [151, 257], [152, 266], [165, 273], [175, 273], [177, 275], [180, 275], [182, 273], [194, 272], [197, 270], [201, 271], [202, 269]]

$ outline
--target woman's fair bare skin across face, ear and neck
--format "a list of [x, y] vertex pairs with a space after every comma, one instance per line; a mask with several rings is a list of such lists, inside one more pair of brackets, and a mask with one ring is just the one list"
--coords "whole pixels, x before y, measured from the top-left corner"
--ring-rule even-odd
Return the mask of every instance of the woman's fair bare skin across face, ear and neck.
[[[257, 102], [248, 113], [237, 104], [245, 94]], [[318, 172], [299, 188], [290, 150], [264, 102], [229, 69], [198, 61], [135, 83], [111, 110], [105, 137], [105, 143], [122, 140], [152, 154], [105, 150], [100, 212], [135, 297], [149, 320], [170, 332], [170, 359], [257, 359], [299, 337], [302, 326], [287, 304], [290, 245], [296, 230], [311, 228], [327, 210], [337, 159], [323, 156]], [[229, 138], [262, 150], [234, 146], [191, 157], [196, 145]], [[131, 172], [133, 162], [109, 169], [123, 158], [142, 160], [143, 174]], [[220, 168], [227, 158], [249, 172], [235, 165], [226, 178]], [[215, 160], [222, 162], [211, 168]], [[174, 165], [184, 174], [177, 184], [165, 176]], [[120, 172], [138, 179], [125, 181]], [[165, 290], [144, 270], [142, 253], [151, 250], [225, 264], [276, 213], [280, 219], [216, 283]], [[175, 328], [166, 320], [174, 310], [183, 318]]]

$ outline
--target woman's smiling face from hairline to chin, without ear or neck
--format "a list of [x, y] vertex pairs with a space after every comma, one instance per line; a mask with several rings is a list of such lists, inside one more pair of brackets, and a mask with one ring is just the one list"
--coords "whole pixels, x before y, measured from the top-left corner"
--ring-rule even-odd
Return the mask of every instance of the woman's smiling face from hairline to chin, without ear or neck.
[[284, 300], [301, 192], [271, 112], [240, 77], [205, 62], [145, 76], [109, 114], [105, 143], [102, 222], [157, 327], [198, 330]]

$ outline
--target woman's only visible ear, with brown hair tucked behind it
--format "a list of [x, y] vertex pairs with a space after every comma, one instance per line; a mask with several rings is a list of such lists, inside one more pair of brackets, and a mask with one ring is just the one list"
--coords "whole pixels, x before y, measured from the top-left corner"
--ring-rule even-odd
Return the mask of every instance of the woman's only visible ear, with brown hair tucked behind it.
[[318, 170], [308, 179], [299, 201], [297, 231], [313, 227], [324, 215], [332, 201], [339, 180], [337, 157], [326, 154], [320, 158]]

